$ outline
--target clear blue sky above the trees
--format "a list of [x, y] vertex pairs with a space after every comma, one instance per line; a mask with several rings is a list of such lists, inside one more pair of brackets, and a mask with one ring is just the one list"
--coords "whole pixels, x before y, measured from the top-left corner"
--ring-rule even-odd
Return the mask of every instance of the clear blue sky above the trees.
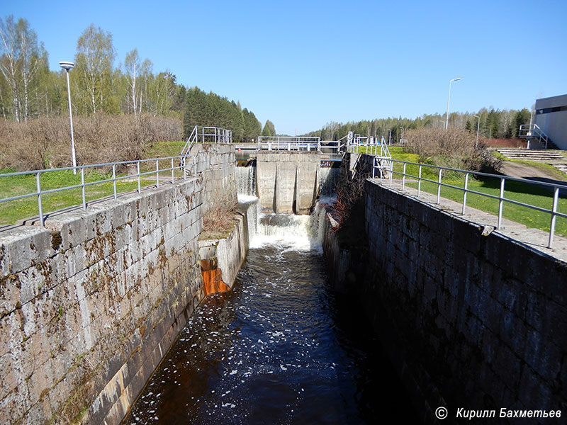
[[94, 23], [117, 61], [214, 91], [301, 134], [328, 121], [531, 107], [567, 94], [567, 1], [6, 1], [50, 68]]

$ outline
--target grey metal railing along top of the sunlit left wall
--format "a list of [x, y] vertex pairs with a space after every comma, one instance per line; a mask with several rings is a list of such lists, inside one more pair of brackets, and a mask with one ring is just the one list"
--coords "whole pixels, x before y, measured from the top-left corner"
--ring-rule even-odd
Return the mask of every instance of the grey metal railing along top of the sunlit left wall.
[[[40, 220], [40, 225], [44, 226], [45, 225], [45, 218], [47, 217], [47, 214], [44, 214], [44, 209], [43, 209], [43, 205], [42, 205], [42, 197], [49, 194], [49, 193], [56, 193], [56, 192], [61, 192], [61, 191], [69, 191], [72, 189], [81, 189], [82, 195], [82, 202], [79, 204], [74, 204], [74, 205], [69, 205], [69, 206], [77, 206], [77, 205], [82, 205], [83, 210], [86, 210], [86, 205], [87, 205], [87, 201], [86, 201], [86, 188], [89, 186], [94, 186], [97, 184], [101, 184], [101, 183], [109, 183], [112, 182], [113, 183], [113, 196], [114, 199], [116, 199], [118, 197], [118, 191], [116, 188], [116, 183], [118, 181], [121, 180], [126, 180], [128, 179], [129, 181], [132, 181], [132, 179], [136, 179], [137, 180], [137, 189], [135, 189], [135, 191], [137, 191], [137, 193], [140, 193], [140, 191], [142, 191], [142, 176], [151, 176], [151, 175], [155, 175], [155, 187], [159, 188], [159, 174], [162, 174], [162, 176], [164, 176], [164, 174], [167, 173], [167, 176], [169, 176], [169, 172], [171, 172], [171, 179], [167, 180], [170, 183], [174, 183], [174, 181], [176, 180], [184, 180], [187, 179], [188, 174], [185, 172], [185, 166], [179, 165], [179, 166], [175, 166], [174, 162], [179, 162], [180, 159], [184, 159], [189, 155], [186, 155], [185, 157], [163, 157], [163, 158], [152, 158], [152, 159], [139, 159], [137, 161], [122, 161], [122, 162], [108, 162], [105, 164], [92, 164], [92, 165], [80, 165], [77, 167], [64, 167], [64, 168], [59, 168], [59, 169], [45, 169], [45, 170], [34, 170], [34, 171], [21, 171], [21, 172], [16, 172], [16, 173], [6, 173], [6, 174], [0, 174], [0, 179], [4, 179], [7, 177], [12, 177], [12, 176], [28, 176], [28, 175], [35, 175], [35, 192], [31, 192], [31, 193], [24, 193], [22, 195], [18, 195], [18, 196], [10, 196], [9, 198], [1, 198], [0, 199], [0, 203], [4, 203], [4, 202], [10, 202], [10, 201], [16, 201], [16, 200], [20, 200], [20, 199], [24, 199], [24, 198], [31, 198], [31, 197], [37, 197], [38, 198], [38, 217]], [[191, 155], [191, 157], [193, 157], [193, 155]], [[194, 160], [195, 158], [193, 157], [193, 175], [196, 176], [196, 162]], [[176, 161], [177, 160], [177, 161]], [[160, 162], [164, 162], [167, 161], [167, 167], [166, 168], [162, 168], [162, 166], [160, 166]], [[140, 171], [140, 164], [145, 164], [145, 163], [155, 163], [155, 169], [152, 169], [151, 171]], [[116, 169], [120, 166], [135, 166], [135, 174], [128, 174], [128, 175], [123, 175], [123, 176], [117, 176], [116, 175]], [[112, 168], [112, 177], [109, 179], [102, 179], [102, 180], [97, 180], [97, 181], [85, 181], [85, 170], [94, 170], [94, 169], [101, 169], [103, 167], [111, 167]], [[60, 187], [60, 188], [52, 188], [52, 189], [43, 189], [42, 188], [42, 181], [41, 181], [41, 177], [44, 174], [48, 174], [48, 173], [52, 173], [54, 171], [67, 171], [67, 170], [76, 170], [79, 169], [79, 173], [81, 176], [81, 183], [80, 184], [75, 184], [72, 186], [64, 186], [64, 187]], [[183, 172], [182, 177], [177, 178], [175, 177], [175, 170], [181, 169]], [[147, 180], [147, 179], [145, 179]], [[67, 207], [65, 207], [67, 208]], [[54, 212], [55, 210], [51, 210], [49, 212]]]

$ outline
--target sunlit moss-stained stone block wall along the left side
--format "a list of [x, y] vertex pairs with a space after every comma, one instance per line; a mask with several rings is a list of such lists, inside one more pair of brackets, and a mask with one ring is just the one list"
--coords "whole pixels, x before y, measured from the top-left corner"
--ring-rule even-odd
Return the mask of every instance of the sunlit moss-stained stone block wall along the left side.
[[203, 298], [201, 181], [0, 234], [0, 423], [118, 424]]

